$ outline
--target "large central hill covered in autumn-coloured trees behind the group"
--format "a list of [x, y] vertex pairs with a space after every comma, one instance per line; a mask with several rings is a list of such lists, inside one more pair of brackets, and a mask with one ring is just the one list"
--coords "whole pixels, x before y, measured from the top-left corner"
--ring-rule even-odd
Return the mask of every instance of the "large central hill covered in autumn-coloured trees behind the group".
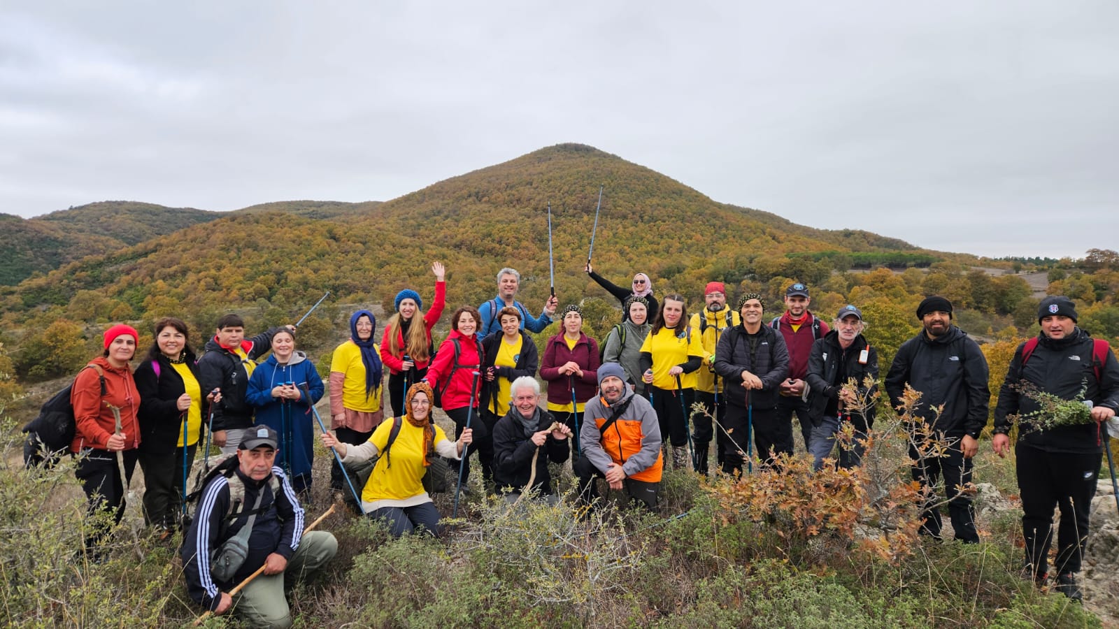
[[[16, 325], [32, 310], [38, 320], [54, 313], [91, 321], [267, 303], [294, 311], [326, 290], [332, 300], [391, 306], [404, 287], [430, 295], [430, 262], [443, 260], [450, 304], [492, 297], [496, 272], [509, 265], [525, 275], [523, 297], [535, 309], [548, 292], [548, 203], [561, 301], [603, 294], [583, 272], [600, 186], [595, 269], [622, 284], [645, 271], [658, 294], [690, 294], [713, 278], [737, 285], [752, 274], [820, 276], [836, 255], [925, 264], [940, 255], [867, 232], [797, 226], [716, 203], [598, 149], [560, 144], [383, 204], [192, 214], [211, 222], [73, 262], [4, 289], [0, 304]], [[91, 313], [75, 310], [76, 298]]]

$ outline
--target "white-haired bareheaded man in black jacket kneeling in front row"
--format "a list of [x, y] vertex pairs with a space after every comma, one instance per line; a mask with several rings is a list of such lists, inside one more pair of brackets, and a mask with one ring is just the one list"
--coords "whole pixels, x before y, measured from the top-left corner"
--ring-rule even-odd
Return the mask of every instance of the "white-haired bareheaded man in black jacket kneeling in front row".
[[555, 420], [539, 407], [540, 384], [535, 377], [513, 381], [509, 396], [509, 412], [493, 426], [493, 484], [507, 500], [516, 501], [528, 486], [535, 464], [533, 488], [554, 504], [557, 498], [552, 494], [548, 461], [562, 464], [571, 456], [571, 429], [560, 424], [551, 430]]

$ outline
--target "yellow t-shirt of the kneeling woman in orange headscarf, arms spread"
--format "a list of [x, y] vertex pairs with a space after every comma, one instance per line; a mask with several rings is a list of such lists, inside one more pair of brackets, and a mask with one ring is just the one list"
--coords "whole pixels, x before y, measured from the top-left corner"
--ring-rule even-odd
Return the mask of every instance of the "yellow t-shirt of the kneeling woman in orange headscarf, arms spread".
[[[377, 447], [377, 452], [384, 452], [388, 443], [388, 433], [393, 431], [393, 419], [386, 417], [377, 430], [373, 431], [369, 441]], [[435, 425], [435, 443], [446, 439], [443, 429]], [[427, 468], [423, 464], [423, 429], [401, 420], [401, 432], [396, 435], [388, 457], [380, 457], [369, 475], [369, 481], [361, 489], [361, 500], [407, 500], [426, 495], [423, 488], [423, 475]]]

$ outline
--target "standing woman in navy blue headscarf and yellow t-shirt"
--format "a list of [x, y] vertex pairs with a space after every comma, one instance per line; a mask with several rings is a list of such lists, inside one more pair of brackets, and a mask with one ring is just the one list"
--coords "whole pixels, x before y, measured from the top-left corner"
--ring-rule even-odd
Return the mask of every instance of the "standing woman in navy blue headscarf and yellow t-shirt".
[[[377, 319], [368, 310], [350, 317], [350, 339], [335, 348], [330, 360], [330, 429], [344, 443], [365, 443], [385, 417], [382, 411], [384, 365], [373, 342]], [[346, 480], [338, 461], [330, 463], [330, 488]]]

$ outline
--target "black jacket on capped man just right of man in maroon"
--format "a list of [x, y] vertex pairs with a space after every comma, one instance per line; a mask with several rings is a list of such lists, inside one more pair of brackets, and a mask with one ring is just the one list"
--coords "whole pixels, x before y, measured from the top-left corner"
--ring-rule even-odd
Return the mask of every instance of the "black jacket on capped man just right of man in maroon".
[[[858, 358], [866, 349], [866, 363]], [[811, 387], [808, 397], [808, 412], [812, 424], [820, 425], [824, 414], [837, 409], [839, 391], [843, 385], [854, 378], [858, 386], [859, 397], [869, 400], [878, 388], [878, 351], [866, 342], [866, 337], [858, 335], [850, 347], [839, 346], [839, 332], [831, 330], [821, 339], [812, 342], [812, 351], [808, 355], [808, 374], [805, 379]], [[866, 386], [867, 378], [874, 383]], [[850, 413], [855, 430], [866, 432], [874, 425], [875, 405], [868, 405], [862, 413]]]

